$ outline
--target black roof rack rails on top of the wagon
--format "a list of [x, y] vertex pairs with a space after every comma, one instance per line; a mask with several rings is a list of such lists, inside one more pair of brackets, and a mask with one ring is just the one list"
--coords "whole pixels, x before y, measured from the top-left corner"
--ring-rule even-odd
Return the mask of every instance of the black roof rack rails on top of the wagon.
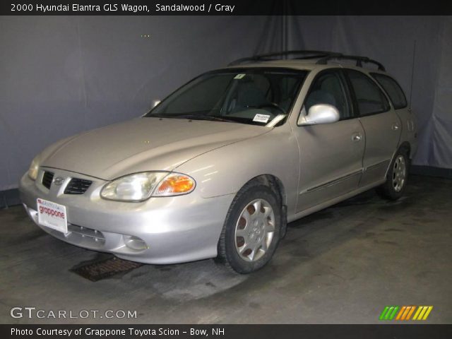
[[355, 60], [356, 66], [362, 67], [362, 63], [366, 64], [375, 64], [378, 66], [379, 71], [385, 71], [384, 66], [379, 63], [378, 61], [375, 61], [373, 59], [369, 59], [368, 57], [358, 57], [355, 55], [345, 55], [338, 52], [326, 52], [326, 51], [317, 51], [317, 50], [309, 50], [309, 49], [299, 49], [295, 51], [282, 51], [282, 52], [272, 52], [272, 53], [266, 53], [266, 54], [258, 54], [253, 57], [246, 57], [242, 59], [237, 59], [235, 61], [232, 61], [227, 66], [235, 66], [239, 64], [243, 64], [244, 62], [248, 61], [272, 61], [272, 60], [278, 60], [275, 59], [275, 57], [283, 57], [287, 55], [297, 55], [301, 54], [300, 57], [295, 57], [292, 59], [297, 60], [307, 60], [307, 59], [319, 59], [316, 61], [316, 64], [328, 64], [328, 61], [333, 59], [346, 59], [346, 60]]

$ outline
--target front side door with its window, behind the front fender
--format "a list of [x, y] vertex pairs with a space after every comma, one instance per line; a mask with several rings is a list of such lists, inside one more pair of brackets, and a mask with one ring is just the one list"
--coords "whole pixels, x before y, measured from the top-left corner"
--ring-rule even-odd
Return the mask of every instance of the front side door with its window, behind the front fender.
[[357, 189], [362, 174], [364, 130], [353, 113], [341, 69], [328, 69], [314, 78], [300, 114], [318, 104], [336, 107], [340, 121], [295, 126], [300, 150], [297, 212]]

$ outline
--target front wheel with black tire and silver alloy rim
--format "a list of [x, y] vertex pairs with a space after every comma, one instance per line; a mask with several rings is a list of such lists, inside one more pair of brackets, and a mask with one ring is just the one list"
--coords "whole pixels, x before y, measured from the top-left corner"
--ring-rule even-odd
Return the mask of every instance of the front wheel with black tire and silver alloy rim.
[[[256, 208], [254, 208], [254, 204], [258, 203], [258, 201], [261, 201], [262, 206], [260, 214], [256, 213]], [[252, 202], [254, 202], [254, 204], [251, 206], [250, 203]], [[265, 214], [263, 211], [265, 210], [268, 212], [268, 207], [271, 207], [273, 214], [265, 218], [263, 217]], [[251, 221], [244, 221], [244, 218], [242, 217], [242, 213], [246, 213], [245, 208], [249, 213], [249, 220], [253, 220], [252, 224]], [[256, 219], [251, 218], [253, 215], [255, 215], [254, 218]], [[273, 222], [271, 222], [272, 217]], [[244, 222], [246, 225], [243, 226], [244, 228], [242, 230]], [[262, 225], [262, 222], [267, 226]], [[235, 272], [241, 274], [251, 273], [262, 268], [270, 261], [275, 253], [276, 247], [280, 241], [281, 224], [281, 203], [272, 189], [259, 182], [250, 182], [249, 184], [246, 184], [237, 193], [237, 196], [235, 196], [230, 209], [227, 212], [225, 225], [223, 225], [220, 240], [218, 242], [218, 257], [216, 258], [216, 261], [224, 263]], [[273, 232], [266, 233], [266, 230], [268, 230], [266, 227], [269, 225], [270, 228], [274, 227]], [[248, 227], [252, 227], [253, 230]], [[246, 238], [249, 239], [249, 244], [246, 244], [244, 237], [237, 236], [236, 228], [237, 230], [251, 232], [251, 234], [253, 234], [246, 235]], [[255, 229], [258, 230], [254, 232]], [[271, 239], [268, 238], [270, 233], [273, 233], [271, 234]], [[262, 239], [262, 241], [266, 243], [265, 246], [267, 246], [267, 249], [265, 251], [263, 249], [264, 245], [257, 244], [259, 239]], [[242, 246], [240, 247], [240, 245]], [[246, 247], [248, 245], [261, 246], [261, 248], [258, 250], [251, 250], [251, 248]], [[244, 249], [242, 254], [239, 254], [239, 248]], [[247, 254], [248, 252], [249, 254]], [[253, 252], [254, 258], [250, 259], [251, 256], [253, 256]]]

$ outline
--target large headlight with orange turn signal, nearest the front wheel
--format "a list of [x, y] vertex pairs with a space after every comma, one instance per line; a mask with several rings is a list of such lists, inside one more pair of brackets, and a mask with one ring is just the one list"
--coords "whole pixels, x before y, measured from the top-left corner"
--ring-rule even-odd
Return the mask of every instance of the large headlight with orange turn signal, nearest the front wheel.
[[195, 188], [191, 177], [180, 173], [141, 172], [109, 182], [100, 196], [109, 200], [143, 201], [151, 196], [177, 196]]

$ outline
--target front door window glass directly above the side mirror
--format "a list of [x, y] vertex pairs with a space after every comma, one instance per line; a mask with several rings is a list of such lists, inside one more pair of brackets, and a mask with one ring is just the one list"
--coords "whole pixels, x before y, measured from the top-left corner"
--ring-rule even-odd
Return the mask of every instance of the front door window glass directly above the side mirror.
[[338, 71], [326, 71], [317, 76], [304, 100], [306, 112], [314, 105], [328, 104], [338, 109], [340, 120], [352, 117], [344, 83], [343, 75]]

